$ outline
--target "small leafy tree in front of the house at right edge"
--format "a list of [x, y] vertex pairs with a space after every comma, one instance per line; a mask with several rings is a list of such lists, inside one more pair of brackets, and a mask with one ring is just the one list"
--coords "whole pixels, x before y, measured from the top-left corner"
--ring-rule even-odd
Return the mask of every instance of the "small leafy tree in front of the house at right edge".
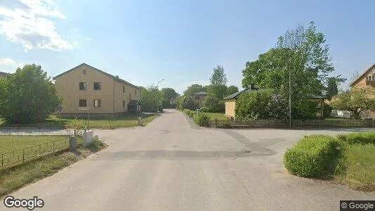
[[336, 110], [351, 111], [358, 119], [365, 110], [375, 109], [374, 95], [374, 88], [353, 88], [334, 97], [331, 106]]

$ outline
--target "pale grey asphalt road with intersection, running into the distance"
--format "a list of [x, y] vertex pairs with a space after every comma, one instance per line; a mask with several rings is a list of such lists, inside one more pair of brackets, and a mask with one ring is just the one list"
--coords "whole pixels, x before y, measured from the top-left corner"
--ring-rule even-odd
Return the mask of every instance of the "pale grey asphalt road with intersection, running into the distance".
[[282, 154], [301, 136], [338, 132], [206, 129], [167, 110], [146, 127], [96, 131], [108, 148], [11, 195], [38, 196], [37, 210], [90, 211], [338, 210], [339, 200], [375, 200], [284, 170]]

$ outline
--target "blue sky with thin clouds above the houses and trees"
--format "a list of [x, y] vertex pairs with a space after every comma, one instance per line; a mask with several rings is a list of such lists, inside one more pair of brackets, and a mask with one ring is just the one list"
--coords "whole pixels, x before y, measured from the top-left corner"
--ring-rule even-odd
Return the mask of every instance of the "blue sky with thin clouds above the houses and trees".
[[223, 65], [242, 87], [246, 61], [277, 37], [314, 21], [325, 34], [336, 75], [375, 63], [375, 1], [0, 0], [0, 71], [27, 63], [51, 77], [81, 63], [137, 86], [178, 93], [209, 84]]

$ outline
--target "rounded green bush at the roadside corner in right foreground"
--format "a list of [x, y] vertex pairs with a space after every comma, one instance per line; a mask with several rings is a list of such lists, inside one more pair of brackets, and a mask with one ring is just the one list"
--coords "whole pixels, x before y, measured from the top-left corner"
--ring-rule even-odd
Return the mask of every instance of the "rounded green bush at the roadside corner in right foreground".
[[284, 155], [284, 165], [298, 177], [326, 178], [334, 174], [341, 151], [332, 136], [305, 136]]

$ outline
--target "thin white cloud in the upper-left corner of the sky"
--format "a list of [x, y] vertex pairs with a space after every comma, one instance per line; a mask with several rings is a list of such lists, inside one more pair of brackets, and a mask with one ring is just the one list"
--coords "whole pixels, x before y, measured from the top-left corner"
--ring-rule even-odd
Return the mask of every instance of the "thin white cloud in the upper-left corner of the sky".
[[53, 18], [65, 19], [65, 15], [52, 0], [8, 0], [0, 6], [0, 34], [25, 51], [74, 49], [77, 41], [63, 39]]

